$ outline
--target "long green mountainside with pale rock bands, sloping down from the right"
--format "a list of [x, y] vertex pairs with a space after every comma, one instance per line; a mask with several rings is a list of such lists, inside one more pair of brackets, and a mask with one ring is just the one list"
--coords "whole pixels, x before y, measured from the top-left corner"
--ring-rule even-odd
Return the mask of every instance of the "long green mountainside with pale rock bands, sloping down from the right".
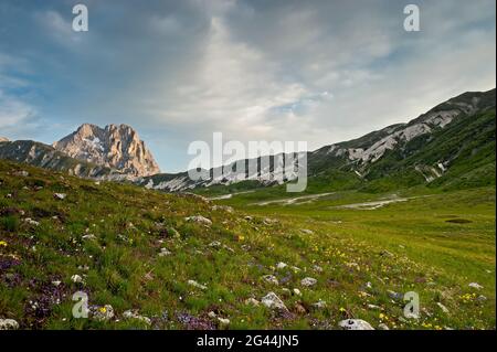
[[[308, 152], [309, 184], [384, 190], [422, 183], [495, 183], [495, 89], [464, 93], [408, 124], [388, 126]], [[254, 160], [244, 162], [247, 166]], [[292, 174], [285, 177], [274, 172], [274, 168], [261, 170], [260, 159], [255, 162], [258, 170], [245, 173], [248, 181], [243, 182], [243, 188], [281, 184], [293, 179]], [[182, 172], [155, 174], [137, 182], [173, 192], [231, 185], [240, 182], [234, 166], [224, 167], [230, 170], [224, 178], [214, 178], [214, 169], [211, 169], [209, 180], [192, 181], [187, 172]], [[293, 170], [293, 167], [284, 166], [286, 170]]]

